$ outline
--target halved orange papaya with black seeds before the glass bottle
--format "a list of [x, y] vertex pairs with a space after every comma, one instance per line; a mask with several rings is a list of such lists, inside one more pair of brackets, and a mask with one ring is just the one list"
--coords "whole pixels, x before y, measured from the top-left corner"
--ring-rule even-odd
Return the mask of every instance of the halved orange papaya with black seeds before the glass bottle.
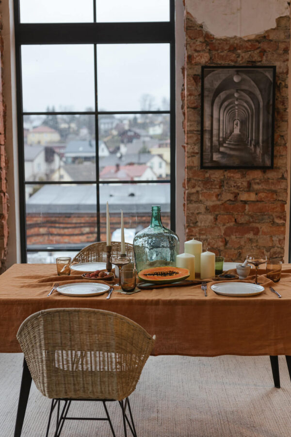
[[190, 276], [188, 269], [180, 267], [153, 267], [151, 269], [144, 269], [138, 273], [138, 277], [145, 282], [152, 284], [167, 284], [170, 282], [181, 281]]

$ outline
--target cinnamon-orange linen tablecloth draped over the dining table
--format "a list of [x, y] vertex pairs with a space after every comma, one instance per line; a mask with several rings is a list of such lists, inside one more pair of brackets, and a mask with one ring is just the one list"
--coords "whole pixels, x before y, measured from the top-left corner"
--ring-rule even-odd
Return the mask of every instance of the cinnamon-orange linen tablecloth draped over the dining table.
[[0, 276], [0, 352], [20, 352], [16, 332], [32, 313], [84, 307], [114, 311], [156, 334], [155, 355], [291, 355], [291, 265], [283, 265], [277, 284], [261, 274], [265, 291], [244, 298], [217, 295], [211, 283], [207, 297], [201, 286], [142, 290], [130, 296], [114, 290], [109, 300], [106, 294], [78, 298], [56, 291], [47, 297], [54, 282], [80, 278], [55, 272], [55, 265], [15, 264]]

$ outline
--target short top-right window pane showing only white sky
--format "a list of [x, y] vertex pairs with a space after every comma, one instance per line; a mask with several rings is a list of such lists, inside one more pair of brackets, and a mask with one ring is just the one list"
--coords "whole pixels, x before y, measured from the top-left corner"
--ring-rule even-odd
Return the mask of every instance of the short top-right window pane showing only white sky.
[[169, 0], [97, 0], [97, 22], [169, 21]]

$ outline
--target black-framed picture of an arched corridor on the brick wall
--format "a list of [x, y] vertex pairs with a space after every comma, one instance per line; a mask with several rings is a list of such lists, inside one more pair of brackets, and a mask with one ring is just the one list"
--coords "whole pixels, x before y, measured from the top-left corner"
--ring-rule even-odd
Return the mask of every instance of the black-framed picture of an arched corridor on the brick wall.
[[275, 74], [202, 67], [201, 168], [273, 168]]

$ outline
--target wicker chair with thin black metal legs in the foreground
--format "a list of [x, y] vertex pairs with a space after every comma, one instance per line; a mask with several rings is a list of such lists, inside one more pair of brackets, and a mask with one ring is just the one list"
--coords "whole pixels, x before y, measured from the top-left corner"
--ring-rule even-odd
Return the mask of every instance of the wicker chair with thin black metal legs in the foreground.
[[[106, 418], [86, 420], [108, 420], [115, 436], [105, 402], [119, 401], [125, 436], [127, 422], [136, 437], [128, 397], [140, 378], [155, 336], [109, 311], [56, 308], [29, 316], [21, 324], [17, 339], [36, 387], [52, 399], [47, 436], [56, 405], [55, 436], [60, 436], [64, 421], [70, 419], [70, 403], [96, 400], [103, 403]], [[59, 416], [61, 401], [65, 404]]]

